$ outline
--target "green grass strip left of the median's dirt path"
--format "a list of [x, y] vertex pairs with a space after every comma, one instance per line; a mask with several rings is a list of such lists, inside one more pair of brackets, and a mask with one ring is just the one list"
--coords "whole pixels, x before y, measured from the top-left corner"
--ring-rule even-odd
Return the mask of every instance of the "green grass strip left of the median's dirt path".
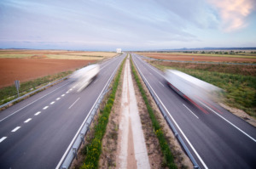
[[[125, 58], [126, 59], [126, 58]], [[120, 65], [118, 75], [115, 77], [112, 87], [112, 92], [108, 97], [107, 104], [105, 105], [104, 109], [101, 110], [101, 114], [98, 117], [98, 121], [96, 126], [94, 127], [94, 138], [91, 140], [90, 144], [86, 145], [84, 152], [86, 154], [84, 159], [84, 164], [81, 166], [81, 169], [87, 168], [98, 168], [98, 163], [100, 159], [100, 155], [102, 153], [102, 138], [106, 132], [106, 128], [108, 125], [108, 117], [112, 110], [113, 101], [115, 99], [115, 93], [117, 91], [119, 85], [119, 79], [121, 76], [121, 72], [123, 70], [123, 65], [125, 63], [125, 59], [123, 60], [122, 64]]]

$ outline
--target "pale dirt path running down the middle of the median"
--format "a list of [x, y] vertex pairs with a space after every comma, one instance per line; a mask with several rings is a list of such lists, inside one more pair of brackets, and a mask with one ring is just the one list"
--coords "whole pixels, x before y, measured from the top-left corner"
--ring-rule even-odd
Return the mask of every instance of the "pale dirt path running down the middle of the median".
[[129, 59], [125, 63], [118, 143], [118, 168], [150, 168]]

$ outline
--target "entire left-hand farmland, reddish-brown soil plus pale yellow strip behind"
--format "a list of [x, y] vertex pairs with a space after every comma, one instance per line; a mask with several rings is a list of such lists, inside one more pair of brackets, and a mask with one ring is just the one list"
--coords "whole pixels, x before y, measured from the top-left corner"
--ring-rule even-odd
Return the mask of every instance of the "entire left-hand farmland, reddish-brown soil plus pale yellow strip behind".
[[27, 82], [38, 77], [76, 70], [89, 63], [116, 56], [111, 52], [83, 52], [66, 50], [0, 50], [0, 88]]

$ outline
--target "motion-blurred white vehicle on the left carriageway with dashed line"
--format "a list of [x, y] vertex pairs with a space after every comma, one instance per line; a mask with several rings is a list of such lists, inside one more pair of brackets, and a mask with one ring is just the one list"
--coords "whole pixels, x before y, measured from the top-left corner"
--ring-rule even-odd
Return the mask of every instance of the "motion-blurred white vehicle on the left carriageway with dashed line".
[[100, 65], [88, 65], [82, 69], [73, 72], [70, 79], [73, 81], [73, 86], [77, 88], [77, 92], [81, 92], [92, 82], [100, 72]]

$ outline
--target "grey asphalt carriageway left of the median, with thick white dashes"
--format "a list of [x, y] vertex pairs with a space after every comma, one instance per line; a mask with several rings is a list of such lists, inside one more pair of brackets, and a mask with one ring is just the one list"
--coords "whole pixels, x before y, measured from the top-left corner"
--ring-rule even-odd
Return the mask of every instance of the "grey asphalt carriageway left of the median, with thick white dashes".
[[55, 168], [125, 54], [77, 93], [67, 79], [0, 113], [0, 168]]

